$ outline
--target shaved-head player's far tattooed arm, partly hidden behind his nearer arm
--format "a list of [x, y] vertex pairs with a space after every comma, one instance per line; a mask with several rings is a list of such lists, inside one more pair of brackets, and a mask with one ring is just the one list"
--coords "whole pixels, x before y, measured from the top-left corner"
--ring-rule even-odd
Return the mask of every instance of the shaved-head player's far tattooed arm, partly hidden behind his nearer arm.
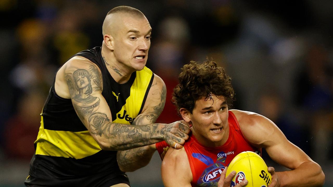
[[[163, 80], [155, 75], [142, 113], [135, 118], [132, 124], [143, 125], [155, 123], [164, 108], [165, 102], [166, 86]], [[155, 151], [155, 144], [125, 151], [118, 151], [118, 165], [124, 172], [135, 171], [146, 166], [150, 162]]]

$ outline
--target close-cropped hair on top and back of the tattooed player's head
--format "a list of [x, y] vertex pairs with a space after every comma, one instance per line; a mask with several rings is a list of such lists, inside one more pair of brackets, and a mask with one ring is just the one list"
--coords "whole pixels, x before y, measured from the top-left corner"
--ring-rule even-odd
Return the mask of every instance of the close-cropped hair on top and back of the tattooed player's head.
[[[113, 9], [111, 9], [108, 14], [106, 15], [104, 22], [103, 22], [103, 26], [102, 26], [102, 34], [103, 36], [105, 34], [111, 34], [111, 30], [112, 30], [112, 23], [113, 23], [113, 19], [116, 19], [115, 17], [113, 17], [112, 15], [115, 13], [124, 13], [124, 14], [128, 14], [130, 16], [133, 17], [138, 17], [138, 18], [146, 18], [146, 16], [138, 9], [130, 7], [130, 6], [118, 6], [115, 7]], [[118, 16], [117, 16], [118, 17]], [[111, 28], [109, 28], [111, 27]]]

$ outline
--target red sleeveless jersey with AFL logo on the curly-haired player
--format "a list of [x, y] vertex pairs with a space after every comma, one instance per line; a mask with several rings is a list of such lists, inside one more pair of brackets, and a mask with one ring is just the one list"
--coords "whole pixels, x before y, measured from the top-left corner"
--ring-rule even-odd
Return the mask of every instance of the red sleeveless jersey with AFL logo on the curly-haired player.
[[[227, 141], [219, 147], [206, 147], [201, 145], [198, 140], [190, 135], [184, 144], [188, 162], [191, 167], [194, 186], [217, 186], [220, 174], [225, 166], [228, 166], [231, 160], [243, 151], [257, 151], [257, 148], [251, 146], [246, 140], [239, 128], [235, 115], [228, 111], [229, 137]], [[168, 146], [165, 142], [156, 144], [160, 155], [163, 147]], [[258, 150], [261, 154], [261, 149]]]

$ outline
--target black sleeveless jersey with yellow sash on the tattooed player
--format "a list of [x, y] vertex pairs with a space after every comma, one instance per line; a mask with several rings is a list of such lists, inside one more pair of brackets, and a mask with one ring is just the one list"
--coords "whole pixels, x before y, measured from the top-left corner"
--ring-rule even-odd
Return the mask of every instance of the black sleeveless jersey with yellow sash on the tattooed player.
[[[118, 84], [105, 66], [101, 47], [74, 56], [87, 58], [101, 70], [102, 95], [110, 107], [113, 122], [131, 124], [142, 111], [154, 79], [153, 72], [145, 67], [134, 72], [127, 83]], [[29, 172], [34, 177], [66, 180], [106, 172], [116, 177], [122, 173], [116, 160], [117, 151], [101, 150], [77, 116], [71, 99], [58, 96], [54, 83], [41, 113], [35, 148]]]

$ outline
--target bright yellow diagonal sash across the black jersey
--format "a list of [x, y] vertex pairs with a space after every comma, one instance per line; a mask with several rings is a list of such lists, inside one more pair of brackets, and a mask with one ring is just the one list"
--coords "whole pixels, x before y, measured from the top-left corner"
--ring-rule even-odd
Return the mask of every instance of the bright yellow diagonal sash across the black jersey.
[[[130, 124], [138, 116], [142, 104], [144, 104], [145, 94], [149, 91], [147, 89], [152, 75], [153, 72], [147, 67], [136, 72], [130, 96], [126, 99], [126, 104], [117, 113], [117, 118], [113, 121], [114, 123]], [[119, 97], [121, 97], [121, 93]], [[41, 117], [41, 126], [35, 143], [37, 144], [36, 154], [47, 156], [80, 159], [101, 150], [88, 130], [71, 132], [44, 129], [43, 116]]]

